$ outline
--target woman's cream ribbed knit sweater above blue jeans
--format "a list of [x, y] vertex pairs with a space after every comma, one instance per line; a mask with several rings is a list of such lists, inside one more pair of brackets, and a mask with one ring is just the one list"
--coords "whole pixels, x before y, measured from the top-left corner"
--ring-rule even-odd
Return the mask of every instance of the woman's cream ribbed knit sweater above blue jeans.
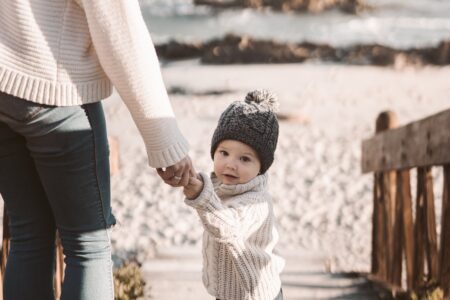
[[114, 85], [152, 167], [186, 156], [137, 0], [0, 1], [0, 28], [0, 91], [69, 106], [104, 99]]

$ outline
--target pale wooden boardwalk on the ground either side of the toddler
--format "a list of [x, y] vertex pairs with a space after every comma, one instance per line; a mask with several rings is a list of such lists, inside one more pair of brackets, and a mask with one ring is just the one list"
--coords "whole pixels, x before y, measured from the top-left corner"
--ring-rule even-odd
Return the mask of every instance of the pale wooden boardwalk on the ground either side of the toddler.
[[[199, 249], [164, 249], [142, 266], [148, 283], [145, 299], [212, 300], [201, 281]], [[325, 272], [320, 253], [285, 253], [282, 273], [285, 300], [380, 299], [372, 284], [355, 274]]]

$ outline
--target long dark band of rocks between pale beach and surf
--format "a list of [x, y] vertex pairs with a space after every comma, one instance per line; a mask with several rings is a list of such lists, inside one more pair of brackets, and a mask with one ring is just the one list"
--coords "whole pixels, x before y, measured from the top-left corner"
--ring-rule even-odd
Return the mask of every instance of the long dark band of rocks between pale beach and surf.
[[403, 67], [450, 64], [450, 41], [436, 47], [394, 49], [377, 44], [332, 47], [326, 44], [281, 43], [226, 35], [204, 43], [170, 41], [156, 46], [163, 60], [200, 58], [203, 64], [299, 63], [323, 61], [351, 65]]

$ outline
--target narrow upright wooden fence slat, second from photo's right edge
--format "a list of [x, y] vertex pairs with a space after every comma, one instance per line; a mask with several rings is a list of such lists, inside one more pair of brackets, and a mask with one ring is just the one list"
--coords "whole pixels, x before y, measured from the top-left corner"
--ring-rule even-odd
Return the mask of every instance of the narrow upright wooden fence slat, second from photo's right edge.
[[428, 279], [438, 280], [438, 251], [437, 251], [437, 232], [436, 232], [436, 212], [434, 209], [433, 193], [433, 175], [431, 168], [425, 168], [425, 224], [426, 228], [426, 253], [428, 266]]

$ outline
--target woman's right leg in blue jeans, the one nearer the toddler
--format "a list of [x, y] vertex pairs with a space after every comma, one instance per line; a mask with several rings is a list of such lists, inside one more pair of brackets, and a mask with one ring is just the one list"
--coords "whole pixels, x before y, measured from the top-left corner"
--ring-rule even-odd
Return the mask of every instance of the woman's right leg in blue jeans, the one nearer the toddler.
[[[20, 99], [12, 101], [36, 106]], [[4, 110], [10, 116], [17, 112]], [[31, 115], [26, 122], [8, 121], [14, 132], [25, 137], [60, 231], [66, 255], [62, 299], [112, 299], [107, 228], [115, 220], [110, 207], [109, 153], [101, 104], [41, 106]]]

